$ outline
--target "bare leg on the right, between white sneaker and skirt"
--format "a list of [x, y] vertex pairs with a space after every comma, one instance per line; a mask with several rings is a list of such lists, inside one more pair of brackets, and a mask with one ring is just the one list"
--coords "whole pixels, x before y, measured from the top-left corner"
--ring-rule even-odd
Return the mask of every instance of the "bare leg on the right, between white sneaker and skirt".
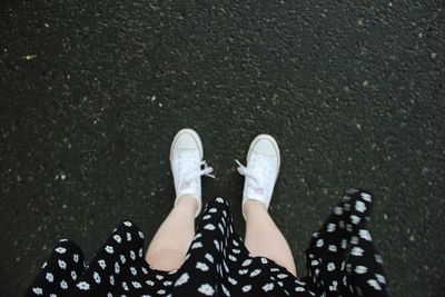
[[250, 254], [273, 259], [297, 276], [289, 245], [270, 218], [265, 205], [256, 200], [247, 200], [244, 212], [246, 215], [245, 245]]

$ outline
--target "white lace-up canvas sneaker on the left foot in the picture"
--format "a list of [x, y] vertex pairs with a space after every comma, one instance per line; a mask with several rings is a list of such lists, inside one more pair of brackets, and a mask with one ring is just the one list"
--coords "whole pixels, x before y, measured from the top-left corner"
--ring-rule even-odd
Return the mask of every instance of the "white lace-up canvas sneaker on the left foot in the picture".
[[[198, 133], [192, 129], [182, 129], [174, 138], [170, 148], [170, 167], [175, 180], [176, 199], [184, 195], [191, 195], [198, 202], [195, 217], [202, 208], [201, 176], [210, 175], [214, 168], [202, 160], [202, 143]], [[204, 168], [201, 168], [204, 166]]]

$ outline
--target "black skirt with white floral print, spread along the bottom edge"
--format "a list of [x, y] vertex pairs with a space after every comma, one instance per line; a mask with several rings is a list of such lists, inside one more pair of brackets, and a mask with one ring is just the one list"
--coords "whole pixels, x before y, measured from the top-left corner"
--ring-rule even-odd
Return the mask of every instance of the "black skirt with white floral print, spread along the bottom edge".
[[387, 296], [382, 258], [366, 229], [372, 200], [360, 190], [343, 197], [313, 235], [303, 278], [250, 256], [228, 202], [218, 197], [207, 204], [179, 269], [152, 269], [142, 232], [123, 220], [88, 265], [75, 242], [60, 240], [24, 296]]

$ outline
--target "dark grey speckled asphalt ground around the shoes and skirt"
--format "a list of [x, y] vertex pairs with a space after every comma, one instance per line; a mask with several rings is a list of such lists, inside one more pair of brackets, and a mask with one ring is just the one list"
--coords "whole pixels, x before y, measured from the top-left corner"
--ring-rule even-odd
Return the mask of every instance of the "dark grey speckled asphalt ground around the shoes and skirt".
[[301, 276], [312, 232], [365, 188], [393, 296], [443, 296], [444, 7], [1, 1], [0, 296], [22, 294], [59, 238], [87, 258], [122, 218], [151, 238], [184, 127], [216, 168], [204, 196], [231, 201], [240, 234], [235, 159], [276, 137], [270, 214]]

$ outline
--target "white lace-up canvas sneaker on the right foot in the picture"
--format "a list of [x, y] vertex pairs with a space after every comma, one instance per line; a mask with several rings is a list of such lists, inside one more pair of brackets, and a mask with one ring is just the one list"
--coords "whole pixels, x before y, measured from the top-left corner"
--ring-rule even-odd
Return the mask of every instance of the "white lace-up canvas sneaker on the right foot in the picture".
[[239, 165], [238, 172], [246, 177], [243, 191], [244, 205], [248, 199], [257, 200], [269, 208], [275, 181], [278, 178], [280, 157], [277, 141], [269, 135], [259, 135], [250, 143], [247, 152], [247, 166]]

